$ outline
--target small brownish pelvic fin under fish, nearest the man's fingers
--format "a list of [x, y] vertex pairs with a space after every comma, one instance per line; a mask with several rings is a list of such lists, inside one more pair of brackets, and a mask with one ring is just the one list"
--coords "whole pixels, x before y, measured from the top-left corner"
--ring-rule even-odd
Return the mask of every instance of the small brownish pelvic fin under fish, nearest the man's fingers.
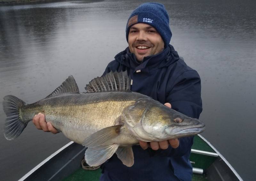
[[132, 147], [119, 147], [116, 150], [117, 157], [123, 162], [127, 167], [131, 167], [134, 163], [134, 157], [132, 152]]

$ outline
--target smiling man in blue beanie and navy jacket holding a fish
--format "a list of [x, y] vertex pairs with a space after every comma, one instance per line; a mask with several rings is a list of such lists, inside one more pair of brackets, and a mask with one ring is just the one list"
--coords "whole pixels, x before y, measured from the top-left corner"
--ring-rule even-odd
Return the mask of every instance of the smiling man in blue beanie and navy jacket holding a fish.
[[[198, 118], [202, 112], [201, 83], [169, 44], [169, 17], [164, 5], [141, 4], [126, 25], [129, 47], [115, 56], [103, 75], [125, 71], [131, 76], [131, 90], [148, 95], [168, 107]], [[34, 117], [38, 129], [57, 133], [44, 115]], [[133, 146], [134, 165], [126, 167], [114, 154], [102, 166], [101, 180], [191, 180], [189, 155], [193, 137], [162, 142], [140, 141]], [[150, 147], [150, 148], [149, 148]]]

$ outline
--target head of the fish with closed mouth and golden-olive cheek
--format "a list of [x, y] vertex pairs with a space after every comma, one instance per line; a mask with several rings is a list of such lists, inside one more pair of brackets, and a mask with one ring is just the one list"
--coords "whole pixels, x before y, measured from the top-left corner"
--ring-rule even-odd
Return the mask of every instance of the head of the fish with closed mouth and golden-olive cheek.
[[164, 106], [152, 98], [140, 98], [124, 111], [124, 124], [142, 141], [163, 141], [199, 134], [204, 123]]

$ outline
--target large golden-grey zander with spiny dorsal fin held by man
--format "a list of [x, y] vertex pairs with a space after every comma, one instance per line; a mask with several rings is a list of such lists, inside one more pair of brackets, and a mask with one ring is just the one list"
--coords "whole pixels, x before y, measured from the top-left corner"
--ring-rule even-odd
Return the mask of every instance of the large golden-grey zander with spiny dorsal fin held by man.
[[4, 136], [17, 138], [41, 112], [45, 121], [67, 138], [88, 147], [87, 164], [98, 166], [116, 153], [130, 167], [134, 163], [132, 145], [139, 140], [163, 141], [204, 131], [203, 122], [131, 92], [130, 83], [127, 72], [110, 72], [86, 85], [86, 93], [79, 93], [75, 79], [69, 76], [49, 96], [33, 104], [5, 96]]

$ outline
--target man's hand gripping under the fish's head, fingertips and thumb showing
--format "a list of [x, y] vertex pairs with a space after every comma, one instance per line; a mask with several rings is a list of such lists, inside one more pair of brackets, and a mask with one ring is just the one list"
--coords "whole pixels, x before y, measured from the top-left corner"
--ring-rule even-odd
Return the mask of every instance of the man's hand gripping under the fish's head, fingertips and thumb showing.
[[[170, 103], [165, 103], [164, 105], [172, 108]], [[175, 139], [169, 139], [169, 140], [160, 141], [160, 142], [151, 141], [149, 144], [150, 144], [150, 147], [152, 148], [152, 150], [158, 150], [159, 148], [167, 149], [169, 144], [173, 148], [178, 148], [178, 146], [180, 145], [180, 142], [177, 138], [175, 138]], [[146, 150], [148, 148], [148, 142], [140, 141], [140, 146], [143, 150]]]

